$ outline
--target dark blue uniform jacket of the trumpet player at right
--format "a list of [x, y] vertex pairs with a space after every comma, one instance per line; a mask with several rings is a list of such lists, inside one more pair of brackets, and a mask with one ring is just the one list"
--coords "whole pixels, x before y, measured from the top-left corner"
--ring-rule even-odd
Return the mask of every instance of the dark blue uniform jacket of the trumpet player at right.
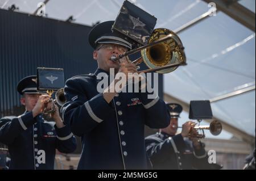
[[210, 169], [203, 146], [199, 150], [194, 149], [192, 142], [184, 140], [181, 134], [170, 136], [158, 132], [146, 137], [145, 142], [153, 169]]

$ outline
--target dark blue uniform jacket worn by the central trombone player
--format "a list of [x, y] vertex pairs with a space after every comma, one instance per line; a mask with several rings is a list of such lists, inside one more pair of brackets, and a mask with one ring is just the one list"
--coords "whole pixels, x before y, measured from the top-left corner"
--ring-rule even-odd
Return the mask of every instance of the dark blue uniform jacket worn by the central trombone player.
[[144, 125], [164, 128], [170, 122], [166, 104], [145, 93], [115, 95], [110, 104], [97, 91], [99, 73], [68, 79], [64, 122], [82, 137], [78, 169], [147, 169]]

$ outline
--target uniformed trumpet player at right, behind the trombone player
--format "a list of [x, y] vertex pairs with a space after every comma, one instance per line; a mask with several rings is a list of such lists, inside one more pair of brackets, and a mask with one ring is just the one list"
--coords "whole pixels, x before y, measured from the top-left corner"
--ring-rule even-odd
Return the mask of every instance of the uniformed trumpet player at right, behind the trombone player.
[[183, 108], [179, 104], [167, 104], [170, 111], [170, 125], [158, 133], [146, 137], [146, 150], [153, 169], [192, 170], [220, 169], [217, 164], [208, 163], [208, 155], [203, 144], [196, 138], [195, 123], [187, 121], [176, 134], [178, 118]]

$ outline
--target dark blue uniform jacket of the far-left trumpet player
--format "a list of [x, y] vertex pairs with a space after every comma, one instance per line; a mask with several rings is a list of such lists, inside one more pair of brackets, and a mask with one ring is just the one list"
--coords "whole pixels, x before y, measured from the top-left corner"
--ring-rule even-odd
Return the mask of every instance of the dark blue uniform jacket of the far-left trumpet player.
[[[68, 126], [57, 128], [42, 115], [35, 118], [32, 112], [7, 116], [0, 120], [0, 142], [6, 144], [11, 155], [9, 169], [54, 169], [55, 149], [71, 153], [76, 149], [76, 140]], [[38, 163], [45, 151], [46, 162]]]

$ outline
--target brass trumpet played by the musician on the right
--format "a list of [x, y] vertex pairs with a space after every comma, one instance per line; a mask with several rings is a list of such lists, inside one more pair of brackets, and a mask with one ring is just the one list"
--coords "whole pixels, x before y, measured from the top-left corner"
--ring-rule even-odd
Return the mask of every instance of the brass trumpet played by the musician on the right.
[[[194, 123], [194, 125], [195, 124], [196, 123]], [[177, 128], [182, 128], [182, 127], [177, 127]], [[212, 133], [214, 136], [217, 136], [222, 132], [222, 124], [220, 123], [220, 121], [214, 120], [210, 123], [210, 125], [207, 125], [207, 126], [199, 125], [199, 126], [193, 127], [193, 129], [197, 130], [197, 134], [193, 136], [191, 135], [192, 137], [205, 138], [204, 129], [208, 129], [210, 133]], [[199, 131], [202, 131], [203, 133], [199, 134]]]

